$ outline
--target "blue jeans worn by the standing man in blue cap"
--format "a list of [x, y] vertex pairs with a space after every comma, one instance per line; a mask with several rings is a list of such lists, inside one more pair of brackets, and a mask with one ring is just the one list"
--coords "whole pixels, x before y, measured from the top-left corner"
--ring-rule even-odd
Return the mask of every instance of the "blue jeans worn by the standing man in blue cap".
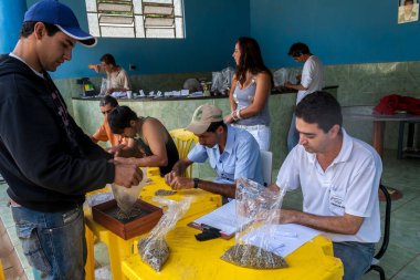
[[41, 279], [84, 280], [87, 251], [82, 206], [62, 212], [11, 209], [23, 252]]

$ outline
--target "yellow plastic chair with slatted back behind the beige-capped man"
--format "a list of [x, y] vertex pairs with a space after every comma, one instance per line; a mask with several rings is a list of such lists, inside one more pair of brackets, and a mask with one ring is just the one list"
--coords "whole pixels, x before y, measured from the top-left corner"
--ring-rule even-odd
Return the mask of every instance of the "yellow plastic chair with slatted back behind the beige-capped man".
[[[188, 132], [185, 128], [176, 128], [169, 132], [172, 137], [175, 145], [177, 146], [179, 158], [186, 159], [188, 153], [191, 149], [192, 143], [198, 143], [198, 137], [192, 133]], [[183, 177], [191, 178], [192, 177], [192, 164], [188, 166], [186, 173], [182, 174]]]

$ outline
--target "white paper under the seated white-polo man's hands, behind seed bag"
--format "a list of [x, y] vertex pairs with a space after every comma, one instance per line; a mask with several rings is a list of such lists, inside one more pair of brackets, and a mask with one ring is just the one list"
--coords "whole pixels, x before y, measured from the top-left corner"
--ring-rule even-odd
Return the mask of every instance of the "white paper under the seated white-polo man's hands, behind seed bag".
[[275, 255], [287, 257], [321, 231], [296, 224], [262, 226], [241, 238], [241, 241], [263, 247]]

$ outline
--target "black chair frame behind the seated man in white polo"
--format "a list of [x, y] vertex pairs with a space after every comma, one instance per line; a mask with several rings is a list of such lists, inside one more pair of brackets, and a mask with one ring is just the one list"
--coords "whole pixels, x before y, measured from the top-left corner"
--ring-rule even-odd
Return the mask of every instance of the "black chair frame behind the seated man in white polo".
[[366, 271], [369, 272], [370, 270], [375, 270], [379, 272], [380, 280], [385, 280], [385, 271], [384, 269], [378, 265], [379, 259], [384, 256], [388, 248], [389, 243], [389, 229], [391, 224], [391, 197], [387, 190], [387, 188], [384, 185], [379, 185], [379, 189], [384, 193], [385, 196], [385, 228], [384, 228], [384, 239], [382, 245], [379, 248], [379, 251], [375, 255], [370, 268]]

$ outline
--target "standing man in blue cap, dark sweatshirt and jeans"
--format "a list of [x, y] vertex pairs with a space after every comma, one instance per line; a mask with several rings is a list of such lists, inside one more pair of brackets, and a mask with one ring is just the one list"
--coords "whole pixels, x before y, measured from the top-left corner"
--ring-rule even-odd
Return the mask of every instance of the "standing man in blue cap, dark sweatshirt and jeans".
[[24, 14], [14, 50], [0, 58], [0, 173], [23, 251], [44, 279], [84, 279], [85, 194], [143, 177], [135, 165], [109, 162], [83, 133], [48, 73], [72, 59], [76, 42], [93, 46], [96, 39], [69, 7], [43, 0]]

